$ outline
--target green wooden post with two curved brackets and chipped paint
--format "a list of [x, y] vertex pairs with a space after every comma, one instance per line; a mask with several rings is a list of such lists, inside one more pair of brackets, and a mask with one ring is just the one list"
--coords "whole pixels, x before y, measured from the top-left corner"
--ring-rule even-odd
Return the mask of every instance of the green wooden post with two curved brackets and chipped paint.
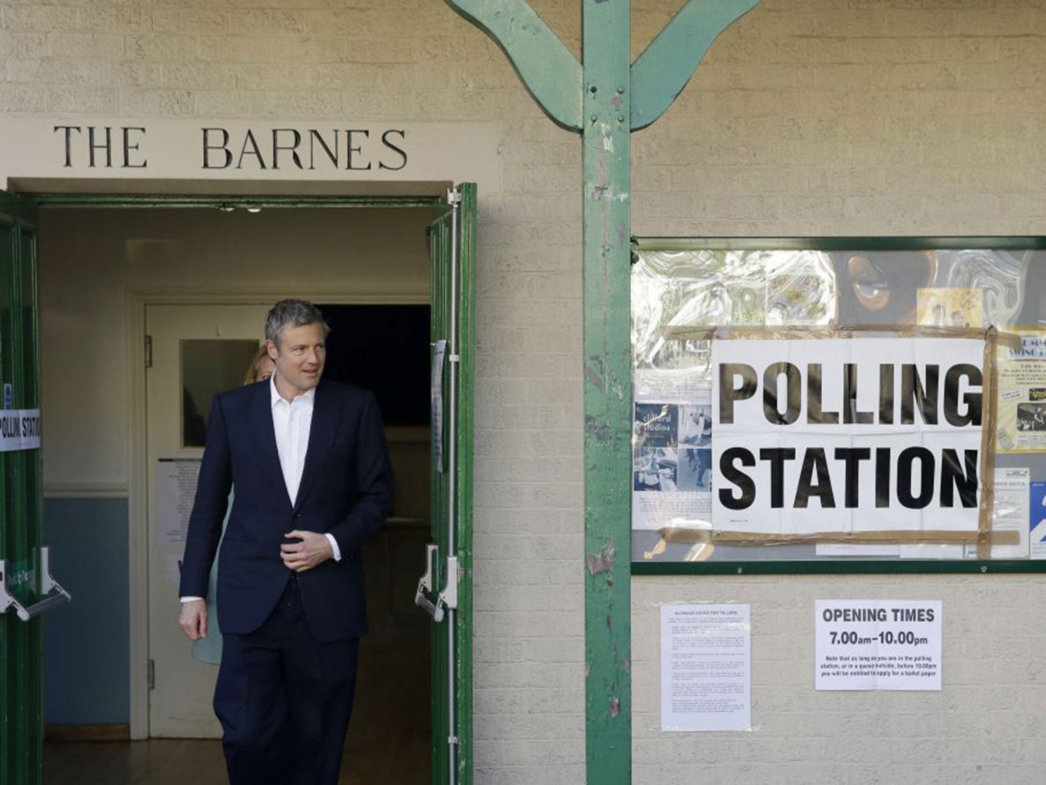
[[505, 51], [584, 147], [586, 780], [632, 782], [630, 134], [654, 122], [715, 37], [758, 0], [688, 0], [629, 61], [629, 0], [582, 0], [584, 65], [525, 0], [447, 0]]

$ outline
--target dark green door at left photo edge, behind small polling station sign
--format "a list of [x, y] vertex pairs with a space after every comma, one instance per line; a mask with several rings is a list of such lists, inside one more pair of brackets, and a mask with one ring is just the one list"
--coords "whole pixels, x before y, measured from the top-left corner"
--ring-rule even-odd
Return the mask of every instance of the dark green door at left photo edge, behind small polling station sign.
[[[37, 344], [36, 206], [0, 192], [0, 408], [40, 408]], [[0, 599], [9, 596], [29, 608], [41, 588], [39, 447], [0, 451], [0, 559], [6, 584], [0, 592], [7, 592]], [[0, 614], [0, 782], [5, 785], [42, 781], [42, 668], [40, 619], [22, 621], [14, 605], [6, 607]]]

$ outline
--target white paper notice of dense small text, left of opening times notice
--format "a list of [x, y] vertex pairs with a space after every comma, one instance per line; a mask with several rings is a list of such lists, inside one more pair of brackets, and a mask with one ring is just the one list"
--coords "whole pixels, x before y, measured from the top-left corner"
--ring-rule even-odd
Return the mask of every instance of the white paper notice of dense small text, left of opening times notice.
[[748, 605], [661, 606], [661, 730], [752, 730]]

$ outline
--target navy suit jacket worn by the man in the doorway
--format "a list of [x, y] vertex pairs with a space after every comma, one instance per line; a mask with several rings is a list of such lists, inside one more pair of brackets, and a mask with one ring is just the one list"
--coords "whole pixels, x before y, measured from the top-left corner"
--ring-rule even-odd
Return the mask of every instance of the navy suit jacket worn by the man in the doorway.
[[299, 574], [302, 608], [321, 642], [367, 630], [360, 546], [392, 504], [392, 473], [374, 397], [348, 384], [316, 387], [309, 448], [294, 504], [276, 451], [269, 382], [214, 398], [182, 562], [181, 597], [205, 597], [222, 537], [229, 490], [232, 511], [222, 539], [218, 620], [246, 634], [269, 616], [291, 571], [279, 557], [283, 535], [298, 529], [334, 535], [341, 561]]

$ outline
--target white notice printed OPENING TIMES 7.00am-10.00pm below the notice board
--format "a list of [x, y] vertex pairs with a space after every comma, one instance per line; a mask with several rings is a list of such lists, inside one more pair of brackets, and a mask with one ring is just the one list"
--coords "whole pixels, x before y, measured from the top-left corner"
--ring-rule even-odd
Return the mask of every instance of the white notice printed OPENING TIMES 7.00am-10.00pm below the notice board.
[[818, 600], [818, 690], [940, 690], [939, 600]]

